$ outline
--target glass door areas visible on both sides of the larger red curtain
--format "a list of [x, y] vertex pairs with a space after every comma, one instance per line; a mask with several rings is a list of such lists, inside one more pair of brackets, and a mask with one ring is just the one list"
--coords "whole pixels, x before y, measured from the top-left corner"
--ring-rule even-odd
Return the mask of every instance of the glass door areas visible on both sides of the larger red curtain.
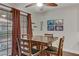
[[[20, 14], [22, 35], [27, 34], [27, 16]], [[12, 13], [0, 8], [0, 56], [12, 54]]]

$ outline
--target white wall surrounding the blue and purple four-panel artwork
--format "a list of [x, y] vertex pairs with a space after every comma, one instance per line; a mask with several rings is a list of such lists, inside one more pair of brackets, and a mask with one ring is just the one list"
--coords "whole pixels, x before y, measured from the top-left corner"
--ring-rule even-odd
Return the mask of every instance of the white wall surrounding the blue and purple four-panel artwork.
[[[65, 36], [64, 50], [78, 52], [79, 51], [79, 11], [77, 7], [64, 7], [52, 9], [47, 13], [33, 14], [32, 21], [43, 21], [43, 30], [33, 31], [34, 35], [44, 35], [44, 33], [53, 33], [54, 36]], [[47, 31], [47, 20], [49, 19], [64, 19], [64, 31]], [[38, 25], [39, 26], [39, 25]]]

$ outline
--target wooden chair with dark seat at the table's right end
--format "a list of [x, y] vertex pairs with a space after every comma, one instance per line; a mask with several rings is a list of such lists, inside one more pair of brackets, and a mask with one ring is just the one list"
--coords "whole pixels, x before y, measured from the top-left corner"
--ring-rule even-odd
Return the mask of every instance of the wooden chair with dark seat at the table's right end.
[[64, 42], [64, 36], [62, 38], [60, 38], [58, 48], [49, 46], [47, 49], [45, 49], [43, 51], [43, 53], [44, 53], [43, 55], [46, 55], [46, 56], [51, 56], [51, 55], [62, 56], [63, 55], [63, 42]]

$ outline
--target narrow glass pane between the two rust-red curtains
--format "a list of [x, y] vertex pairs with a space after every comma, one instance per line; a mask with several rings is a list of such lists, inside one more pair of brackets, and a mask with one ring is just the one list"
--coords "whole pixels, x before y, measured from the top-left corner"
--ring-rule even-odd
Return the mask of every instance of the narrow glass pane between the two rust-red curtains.
[[20, 15], [20, 28], [21, 28], [21, 38], [25, 38], [27, 35], [27, 16]]

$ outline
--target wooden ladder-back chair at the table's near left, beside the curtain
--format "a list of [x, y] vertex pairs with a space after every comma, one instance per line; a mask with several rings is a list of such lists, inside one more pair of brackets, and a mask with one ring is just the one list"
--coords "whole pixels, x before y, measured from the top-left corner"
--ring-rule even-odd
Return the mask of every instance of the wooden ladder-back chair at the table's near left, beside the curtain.
[[[18, 46], [18, 55], [19, 56], [31, 56], [31, 55], [39, 55], [40, 50], [34, 49], [32, 45], [32, 40], [30, 39], [18, 39], [17, 46]], [[36, 44], [36, 46], [38, 46]]]

